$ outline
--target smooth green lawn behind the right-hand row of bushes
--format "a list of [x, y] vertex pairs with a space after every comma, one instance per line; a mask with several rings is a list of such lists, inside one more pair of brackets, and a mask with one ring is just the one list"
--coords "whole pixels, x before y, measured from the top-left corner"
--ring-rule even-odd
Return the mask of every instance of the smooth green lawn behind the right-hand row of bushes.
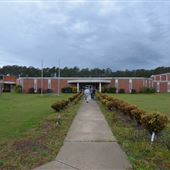
[[114, 94], [146, 111], [161, 111], [170, 118], [170, 94]]

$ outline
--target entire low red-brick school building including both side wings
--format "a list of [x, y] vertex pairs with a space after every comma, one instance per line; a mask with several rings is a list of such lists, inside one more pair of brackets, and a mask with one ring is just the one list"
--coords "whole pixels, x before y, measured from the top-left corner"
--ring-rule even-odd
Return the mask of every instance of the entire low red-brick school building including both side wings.
[[159, 93], [170, 92], [170, 73], [152, 75], [150, 78], [144, 77], [20, 77], [16, 79], [14, 76], [1, 76], [0, 91], [13, 91], [15, 85], [21, 85], [24, 93], [29, 92], [32, 88], [34, 92], [39, 89], [46, 91], [51, 89], [54, 93], [61, 91], [63, 87], [74, 86], [77, 91], [85, 87], [94, 87], [101, 91], [102, 87], [116, 87], [124, 89], [126, 93], [131, 93], [132, 89], [139, 92], [144, 87], [155, 88]]

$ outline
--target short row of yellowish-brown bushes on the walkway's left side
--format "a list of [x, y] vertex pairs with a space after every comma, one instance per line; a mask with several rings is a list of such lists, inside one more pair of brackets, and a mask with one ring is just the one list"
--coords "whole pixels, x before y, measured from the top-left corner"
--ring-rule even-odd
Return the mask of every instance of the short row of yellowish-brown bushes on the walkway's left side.
[[74, 96], [69, 97], [67, 100], [62, 100], [52, 104], [51, 107], [55, 111], [59, 112], [60, 110], [66, 108], [69, 105], [69, 103], [74, 102], [76, 104], [82, 98], [82, 95], [83, 95], [82, 93], [77, 93]]

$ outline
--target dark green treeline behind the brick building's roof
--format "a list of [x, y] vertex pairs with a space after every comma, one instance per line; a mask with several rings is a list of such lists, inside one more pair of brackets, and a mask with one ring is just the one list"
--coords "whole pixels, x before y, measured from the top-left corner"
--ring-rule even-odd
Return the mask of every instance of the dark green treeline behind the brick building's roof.
[[[158, 67], [152, 70], [137, 69], [137, 70], [124, 70], [124, 71], [112, 71], [110, 68], [68, 68], [64, 67], [60, 69], [61, 77], [150, 77], [153, 74], [161, 74], [170, 72], [170, 67]], [[0, 75], [14, 75], [17, 77], [39, 77], [41, 76], [41, 69], [35, 67], [26, 66], [3, 66], [0, 68]], [[58, 76], [58, 68], [44, 68], [44, 77]]]

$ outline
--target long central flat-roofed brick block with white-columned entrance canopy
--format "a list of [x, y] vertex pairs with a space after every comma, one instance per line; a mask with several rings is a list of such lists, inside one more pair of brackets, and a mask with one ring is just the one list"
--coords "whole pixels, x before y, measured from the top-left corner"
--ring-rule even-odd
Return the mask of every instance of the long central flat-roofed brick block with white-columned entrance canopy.
[[139, 92], [143, 87], [152, 87], [151, 78], [141, 77], [22, 77], [17, 79], [17, 84], [22, 86], [23, 92], [27, 93], [30, 88], [36, 93], [42, 88], [44, 91], [52, 89], [54, 93], [61, 91], [63, 87], [74, 86], [77, 92], [85, 87], [93, 87], [101, 91], [102, 87], [116, 87], [124, 89], [126, 93], [131, 93], [132, 89]]

